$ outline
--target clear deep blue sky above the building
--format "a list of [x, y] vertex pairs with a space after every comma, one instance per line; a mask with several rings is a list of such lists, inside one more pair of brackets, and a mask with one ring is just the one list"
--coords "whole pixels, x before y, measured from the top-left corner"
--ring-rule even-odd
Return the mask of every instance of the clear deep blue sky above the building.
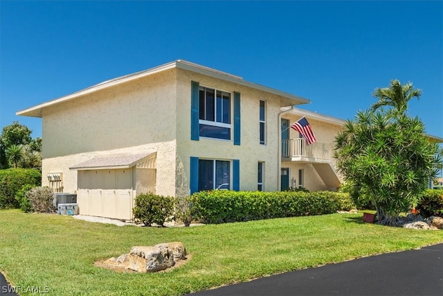
[[352, 119], [390, 80], [422, 89], [409, 113], [443, 137], [443, 1], [0, 0], [0, 128], [15, 112], [188, 60]]

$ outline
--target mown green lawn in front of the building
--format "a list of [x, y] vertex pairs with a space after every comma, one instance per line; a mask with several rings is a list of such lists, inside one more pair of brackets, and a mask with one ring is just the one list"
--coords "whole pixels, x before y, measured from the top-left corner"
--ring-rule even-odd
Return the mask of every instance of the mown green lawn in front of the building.
[[[192, 254], [170, 272], [118, 273], [93, 262], [133, 245], [181, 241]], [[52, 295], [183, 295], [255, 277], [443, 243], [443, 231], [362, 223], [362, 214], [201, 227], [118, 227], [70, 216], [0, 211], [0, 270]]]

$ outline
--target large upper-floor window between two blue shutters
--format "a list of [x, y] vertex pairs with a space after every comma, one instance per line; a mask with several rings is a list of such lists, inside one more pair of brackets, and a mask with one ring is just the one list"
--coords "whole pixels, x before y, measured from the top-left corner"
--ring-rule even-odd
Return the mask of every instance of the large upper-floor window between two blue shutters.
[[199, 135], [230, 140], [230, 93], [199, 87]]

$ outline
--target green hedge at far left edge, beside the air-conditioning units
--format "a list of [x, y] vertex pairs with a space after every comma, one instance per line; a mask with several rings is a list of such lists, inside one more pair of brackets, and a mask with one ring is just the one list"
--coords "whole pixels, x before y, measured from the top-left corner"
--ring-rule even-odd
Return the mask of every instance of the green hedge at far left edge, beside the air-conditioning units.
[[40, 186], [40, 171], [26, 168], [0, 170], [0, 209], [18, 208], [19, 201], [15, 195], [26, 184]]

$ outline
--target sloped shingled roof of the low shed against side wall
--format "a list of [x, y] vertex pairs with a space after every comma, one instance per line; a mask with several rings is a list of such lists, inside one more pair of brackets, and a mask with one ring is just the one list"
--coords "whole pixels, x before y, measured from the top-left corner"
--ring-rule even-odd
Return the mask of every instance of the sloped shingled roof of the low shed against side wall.
[[69, 169], [74, 171], [92, 171], [132, 168], [155, 156], [156, 153], [98, 156], [86, 162], [71, 166]]

